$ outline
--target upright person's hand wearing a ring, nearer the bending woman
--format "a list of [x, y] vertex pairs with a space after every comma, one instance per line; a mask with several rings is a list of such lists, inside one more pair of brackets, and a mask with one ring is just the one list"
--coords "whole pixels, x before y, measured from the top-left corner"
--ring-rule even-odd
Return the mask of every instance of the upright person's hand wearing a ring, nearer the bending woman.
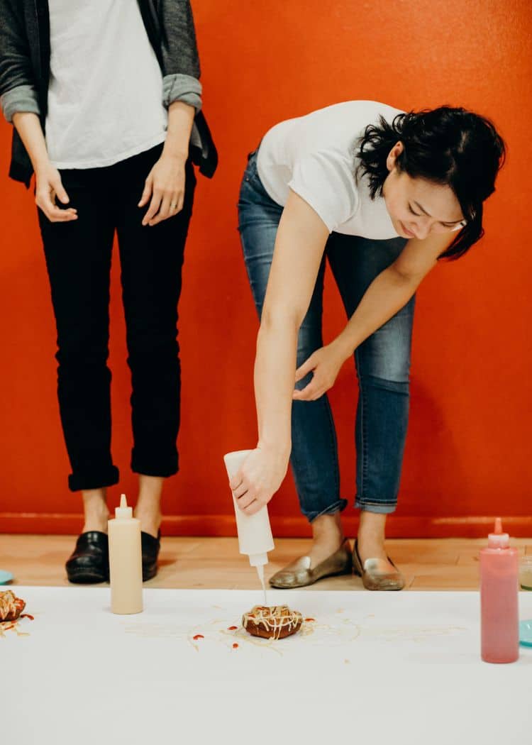
[[148, 204], [143, 225], [156, 225], [183, 209], [185, 198], [185, 159], [162, 153], [148, 174], [139, 207]]

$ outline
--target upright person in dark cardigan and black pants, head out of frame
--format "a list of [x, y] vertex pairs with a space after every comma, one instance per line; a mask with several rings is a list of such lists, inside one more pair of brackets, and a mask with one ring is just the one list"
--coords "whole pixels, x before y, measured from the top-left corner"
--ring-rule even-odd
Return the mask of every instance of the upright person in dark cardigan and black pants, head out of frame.
[[61, 422], [81, 492], [71, 582], [108, 579], [109, 285], [115, 231], [131, 370], [142, 572], [157, 570], [159, 502], [177, 472], [177, 302], [194, 168], [216, 150], [200, 112], [188, 0], [0, 0], [0, 95], [13, 122], [10, 176], [35, 173], [57, 323]]

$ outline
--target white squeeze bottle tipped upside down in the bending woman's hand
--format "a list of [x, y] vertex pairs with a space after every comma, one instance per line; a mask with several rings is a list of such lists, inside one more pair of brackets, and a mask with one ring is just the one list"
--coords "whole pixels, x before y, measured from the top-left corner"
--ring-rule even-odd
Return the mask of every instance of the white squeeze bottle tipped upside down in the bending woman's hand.
[[[229, 479], [238, 472], [238, 469], [250, 452], [250, 450], [237, 450], [224, 455], [224, 463]], [[238, 532], [240, 553], [247, 554], [247, 557], [250, 559], [250, 565], [256, 567], [266, 597], [265, 564], [267, 564], [267, 552], [273, 551], [274, 548], [267, 506], [262, 507], [254, 515], [246, 515], [238, 507], [238, 504], [236, 504], [234, 494], [232, 501], [235, 507], [236, 530]]]

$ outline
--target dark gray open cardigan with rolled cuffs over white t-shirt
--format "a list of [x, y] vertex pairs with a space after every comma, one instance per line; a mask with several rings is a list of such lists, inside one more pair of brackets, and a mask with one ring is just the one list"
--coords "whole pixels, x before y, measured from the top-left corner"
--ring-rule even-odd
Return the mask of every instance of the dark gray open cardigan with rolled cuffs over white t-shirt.
[[[163, 103], [184, 101], [196, 110], [191, 159], [211, 177], [218, 154], [201, 112], [200, 61], [189, 0], [138, 0], [146, 33], [162, 71]], [[7, 121], [34, 112], [45, 127], [50, 77], [47, 0], [0, 0], [0, 103]], [[10, 177], [29, 185], [28, 153], [13, 129]]]

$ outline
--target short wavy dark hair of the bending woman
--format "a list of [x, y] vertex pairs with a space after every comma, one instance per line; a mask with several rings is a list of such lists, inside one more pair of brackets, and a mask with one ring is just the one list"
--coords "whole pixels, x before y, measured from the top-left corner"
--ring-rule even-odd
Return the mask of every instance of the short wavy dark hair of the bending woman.
[[356, 174], [367, 174], [372, 199], [382, 195], [386, 159], [399, 141], [399, 171], [450, 186], [455, 193], [466, 224], [440, 259], [459, 259], [484, 235], [482, 205], [495, 191], [506, 155], [504, 140], [489, 119], [461, 108], [410, 111], [396, 115], [391, 124], [379, 116], [356, 145]]

